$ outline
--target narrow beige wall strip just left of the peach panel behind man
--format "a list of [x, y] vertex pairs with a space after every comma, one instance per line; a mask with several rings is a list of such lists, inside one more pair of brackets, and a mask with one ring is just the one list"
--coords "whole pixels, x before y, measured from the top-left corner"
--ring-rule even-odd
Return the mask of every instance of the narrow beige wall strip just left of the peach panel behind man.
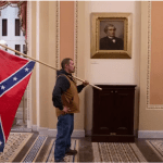
[[[57, 16], [54, 16], [57, 14], [57, 4], [55, 2], [50, 2], [49, 3], [49, 54], [51, 55], [48, 59], [48, 63], [54, 67], [57, 67], [55, 65], [55, 42], [57, 42], [57, 37], [55, 37], [55, 22], [57, 22]], [[49, 93], [49, 98], [48, 98], [48, 103], [50, 104], [49, 106], [49, 113], [48, 113], [48, 127], [49, 128], [55, 128], [57, 126], [57, 118], [55, 118], [55, 109], [52, 105], [52, 90], [55, 84], [55, 71], [49, 68], [49, 77], [48, 77], [48, 85], [49, 85], [49, 89], [48, 89], [48, 93]]]

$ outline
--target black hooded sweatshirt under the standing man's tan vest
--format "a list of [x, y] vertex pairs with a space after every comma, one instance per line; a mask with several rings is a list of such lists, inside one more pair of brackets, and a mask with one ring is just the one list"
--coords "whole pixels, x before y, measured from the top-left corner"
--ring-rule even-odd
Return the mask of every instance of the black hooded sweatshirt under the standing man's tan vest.
[[[59, 108], [60, 110], [63, 110], [63, 103], [62, 103], [62, 99], [61, 96], [63, 92], [65, 92], [70, 87], [71, 84], [68, 82], [68, 79], [64, 76], [64, 75], [68, 75], [70, 79], [73, 80], [73, 78], [71, 78], [72, 74], [68, 74], [67, 72], [65, 72], [64, 70], [58, 71], [57, 72], [57, 83], [52, 92], [52, 101], [53, 101], [53, 105], [55, 108]], [[78, 85], [77, 86], [77, 91], [80, 92], [83, 90], [85, 86], [84, 85]]]

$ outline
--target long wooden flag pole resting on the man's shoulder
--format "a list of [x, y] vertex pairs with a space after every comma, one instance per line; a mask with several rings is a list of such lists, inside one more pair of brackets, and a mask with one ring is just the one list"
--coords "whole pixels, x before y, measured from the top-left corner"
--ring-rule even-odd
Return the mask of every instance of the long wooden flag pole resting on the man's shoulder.
[[[16, 52], [16, 53], [18, 53], [18, 54], [21, 54], [21, 55], [23, 55], [23, 57], [25, 57], [25, 58], [28, 58], [28, 59], [30, 59], [30, 60], [33, 60], [33, 61], [36, 61], [36, 62], [38, 62], [38, 63], [40, 63], [40, 64], [43, 64], [43, 65], [46, 65], [46, 66], [48, 66], [48, 67], [50, 67], [50, 68], [53, 68], [53, 70], [55, 70], [55, 71], [59, 71], [59, 70], [57, 70], [55, 67], [53, 67], [53, 66], [51, 66], [51, 65], [49, 65], [49, 64], [47, 64], [47, 63], [43, 63], [43, 62], [41, 62], [41, 61], [38, 61], [38, 60], [36, 60], [36, 59], [34, 59], [34, 58], [32, 58], [32, 57], [28, 57], [28, 55], [26, 55], [26, 54], [24, 54], [24, 53], [22, 53], [22, 52], [20, 52], [20, 51], [17, 51], [17, 50], [14, 50], [14, 49], [12, 49], [12, 48], [9, 48], [9, 47], [7, 47], [7, 46], [4, 46], [4, 45], [1, 45], [0, 43], [0, 46], [1, 47], [3, 47], [3, 48], [5, 48], [5, 49], [9, 49], [9, 50], [11, 50], [11, 51], [14, 51], [14, 52]], [[85, 80], [83, 80], [83, 79], [80, 79], [80, 78], [78, 78], [78, 77], [76, 77], [76, 76], [73, 76], [74, 78], [76, 78], [76, 79], [78, 79], [78, 80], [80, 80], [80, 82], [85, 82]], [[95, 88], [97, 88], [97, 89], [99, 89], [99, 90], [102, 90], [102, 88], [100, 88], [100, 87], [98, 87], [98, 86], [95, 86], [95, 85], [92, 85], [92, 84], [89, 84], [90, 86], [92, 86], [92, 87], [95, 87]]]

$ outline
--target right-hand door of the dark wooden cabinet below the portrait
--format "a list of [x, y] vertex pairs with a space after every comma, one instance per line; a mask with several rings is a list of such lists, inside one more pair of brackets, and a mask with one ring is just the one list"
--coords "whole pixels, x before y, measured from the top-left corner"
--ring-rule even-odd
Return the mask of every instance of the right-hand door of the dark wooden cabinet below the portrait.
[[115, 90], [115, 110], [113, 124], [116, 135], [134, 134], [134, 90]]

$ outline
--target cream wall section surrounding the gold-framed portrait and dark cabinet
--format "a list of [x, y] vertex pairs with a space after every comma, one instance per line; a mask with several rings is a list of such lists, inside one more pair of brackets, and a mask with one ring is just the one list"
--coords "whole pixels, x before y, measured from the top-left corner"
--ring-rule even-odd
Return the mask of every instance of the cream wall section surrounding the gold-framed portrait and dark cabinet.
[[[82, 3], [82, 2], [79, 2]], [[140, 2], [138, 1], [87, 1], [83, 10], [85, 20], [85, 78], [92, 84], [137, 85], [135, 104], [135, 130], [138, 126], [139, 105], [139, 55], [140, 55]], [[90, 59], [90, 13], [127, 12], [133, 13], [131, 59]], [[85, 129], [88, 135], [92, 127], [92, 89], [88, 87], [85, 96]], [[102, 109], [99, 109], [102, 111]], [[100, 120], [99, 120], [100, 121]]]

